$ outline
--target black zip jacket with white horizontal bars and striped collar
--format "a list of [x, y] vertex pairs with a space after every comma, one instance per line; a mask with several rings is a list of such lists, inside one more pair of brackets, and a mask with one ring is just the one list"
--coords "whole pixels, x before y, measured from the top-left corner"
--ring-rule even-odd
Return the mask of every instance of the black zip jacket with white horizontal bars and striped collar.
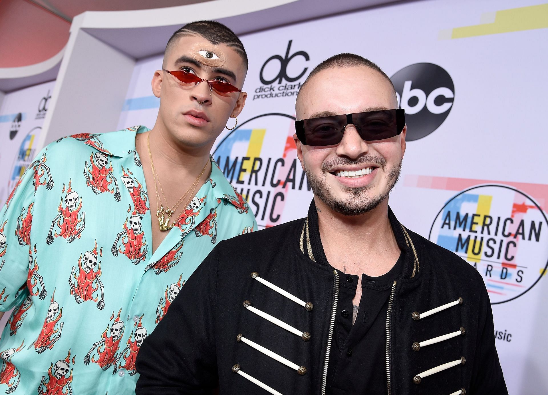
[[[507, 394], [481, 275], [389, 218], [405, 261], [379, 361], [387, 393]], [[220, 242], [142, 344], [136, 393], [328, 394], [340, 279], [313, 202], [306, 218]]]

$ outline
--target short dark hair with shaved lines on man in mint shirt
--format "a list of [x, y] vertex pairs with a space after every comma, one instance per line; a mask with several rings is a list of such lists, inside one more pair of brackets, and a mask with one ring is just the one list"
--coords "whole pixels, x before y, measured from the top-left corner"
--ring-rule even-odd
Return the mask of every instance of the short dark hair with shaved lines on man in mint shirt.
[[248, 68], [249, 61], [247, 59], [246, 49], [243, 47], [242, 42], [232, 30], [217, 21], [203, 20], [191, 22], [190, 24], [176, 30], [169, 38], [168, 43], [165, 46], [164, 57], [168, 52], [168, 49], [177, 38], [193, 34], [206, 38], [207, 41], [214, 45], [225, 44], [227, 47], [231, 47], [243, 59], [246, 69]]

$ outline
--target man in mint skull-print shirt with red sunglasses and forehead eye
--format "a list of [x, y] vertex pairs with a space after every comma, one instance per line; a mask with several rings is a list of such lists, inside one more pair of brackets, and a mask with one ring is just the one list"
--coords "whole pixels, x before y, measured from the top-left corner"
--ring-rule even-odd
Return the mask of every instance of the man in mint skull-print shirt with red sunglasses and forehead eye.
[[0, 391], [134, 393], [139, 348], [186, 279], [256, 229], [209, 155], [243, 108], [246, 71], [226, 26], [193, 22], [153, 77], [151, 131], [84, 131], [38, 154], [0, 211], [0, 311], [15, 307]]

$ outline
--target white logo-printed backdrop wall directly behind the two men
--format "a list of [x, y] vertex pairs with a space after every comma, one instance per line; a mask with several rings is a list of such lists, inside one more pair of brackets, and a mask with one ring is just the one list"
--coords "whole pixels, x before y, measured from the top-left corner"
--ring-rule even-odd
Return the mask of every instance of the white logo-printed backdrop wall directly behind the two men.
[[[248, 101], [238, 128], [225, 129], [213, 151], [260, 227], [305, 216], [312, 193], [291, 138], [299, 83], [336, 53], [378, 63], [409, 114], [391, 206], [403, 224], [483, 275], [511, 394], [548, 393], [541, 277], [548, 261], [548, 57], [539, 47], [548, 42], [548, 9], [530, 7], [538, 4], [431, 0], [243, 36]], [[161, 63], [153, 57], [136, 65], [119, 128], [154, 125], [159, 100], [150, 80]], [[470, 189], [477, 185], [496, 186]]]

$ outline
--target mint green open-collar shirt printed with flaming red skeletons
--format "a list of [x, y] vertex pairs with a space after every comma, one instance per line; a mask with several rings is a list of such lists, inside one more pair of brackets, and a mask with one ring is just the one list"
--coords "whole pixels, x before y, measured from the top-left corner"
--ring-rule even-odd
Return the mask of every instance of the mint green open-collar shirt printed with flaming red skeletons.
[[0, 311], [15, 307], [0, 339], [0, 391], [134, 393], [139, 347], [185, 281], [217, 242], [257, 228], [212, 159], [152, 253], [158, 222], [141, 167], [150, 162], [135, 150], [147, 130], [49, 144], [0, 211]]

